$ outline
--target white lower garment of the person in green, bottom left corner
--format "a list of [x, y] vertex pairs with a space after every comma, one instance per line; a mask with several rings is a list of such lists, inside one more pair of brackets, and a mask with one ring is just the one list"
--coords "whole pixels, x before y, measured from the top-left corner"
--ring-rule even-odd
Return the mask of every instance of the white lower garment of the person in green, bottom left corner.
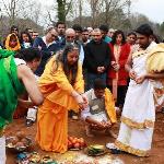
[[5, 164], [5, 137], [0, 138], [0, 164]]

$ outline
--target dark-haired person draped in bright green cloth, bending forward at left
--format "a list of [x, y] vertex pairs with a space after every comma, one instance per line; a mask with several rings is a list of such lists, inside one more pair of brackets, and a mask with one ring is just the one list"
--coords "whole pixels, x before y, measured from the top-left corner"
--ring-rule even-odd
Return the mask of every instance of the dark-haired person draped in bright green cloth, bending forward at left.
[[[43, 103], [43, 95], [37, 86], [32, 70], [39, 65], [40, 52], [27, 48], [13, 52], [0, 49], [0, 161], [5, 164], [5, 138], [3, 130], [12, 121], [16, 106], [35, 106]], [[26, 92], [32, 102], [20, 99]]]

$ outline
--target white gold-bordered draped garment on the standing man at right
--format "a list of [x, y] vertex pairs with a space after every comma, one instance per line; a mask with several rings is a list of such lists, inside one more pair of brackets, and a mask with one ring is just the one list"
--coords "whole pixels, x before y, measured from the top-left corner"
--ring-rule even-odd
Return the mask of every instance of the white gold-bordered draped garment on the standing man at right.
[[[140, 77], [147, 73], [145, 61], [152, 43], [143, 54], [133, 57], [132, 69]], [[151, 149], [153, 127], [155, 121], [155, 106], [153, 85], [151, 80], [137, 84], [130, 80], [121, 116], [121, 125], [116, 147], [138, 156], [145, 156]]]

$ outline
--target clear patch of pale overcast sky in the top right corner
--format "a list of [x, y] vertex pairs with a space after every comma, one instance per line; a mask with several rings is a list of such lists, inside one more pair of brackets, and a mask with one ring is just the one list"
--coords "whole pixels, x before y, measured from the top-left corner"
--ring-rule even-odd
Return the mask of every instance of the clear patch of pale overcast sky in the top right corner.
[[131, 12], [147, 15], [151, 21], [164, 22], [164, 0], [132, 0]]

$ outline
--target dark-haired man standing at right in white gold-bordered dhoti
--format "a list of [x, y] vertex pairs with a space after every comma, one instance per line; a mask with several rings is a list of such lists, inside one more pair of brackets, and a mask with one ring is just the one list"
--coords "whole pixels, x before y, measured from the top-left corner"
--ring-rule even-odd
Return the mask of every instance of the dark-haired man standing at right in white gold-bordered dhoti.
[[147, 156], [151, 150], [155, 121], [153, 83], [157, 82], [159, 79], [164, 79], [164, 71], [161, 73], [147, 71], [147, 59], [150, 51], [156, 47], [156, 44], [152, 42], [153, 31], [151, 27], [143, 24], [136, 32], [140, 47], [129, 57], [126, 65], [130, 83], [115, 145], [121, 151], [138, 156]]

